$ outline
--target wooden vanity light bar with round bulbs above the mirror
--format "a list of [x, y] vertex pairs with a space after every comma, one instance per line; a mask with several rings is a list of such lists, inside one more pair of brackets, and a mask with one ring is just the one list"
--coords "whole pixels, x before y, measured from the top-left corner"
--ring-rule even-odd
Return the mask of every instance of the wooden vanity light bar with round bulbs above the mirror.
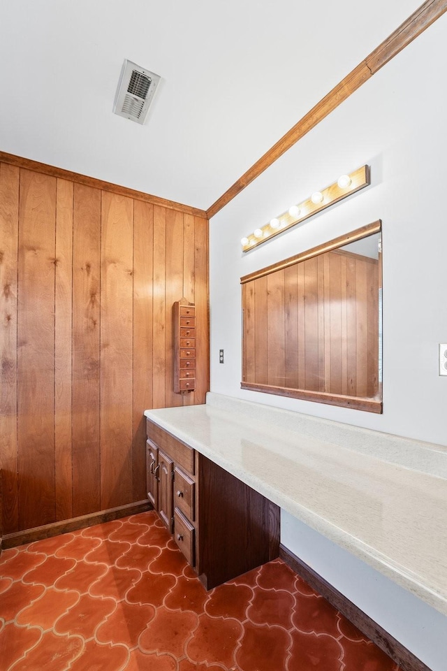
[[271, 219], [268, 224], [256, 229], [254, 233], [250, 233], [247, 238], [242, 238], [240, 241], [242, 252], [248, 252], [264, 243], [265, 240], [270, 240], [286, 229], [290, 229], [291, 226], [304, 222], [305, 219], [309, 219], [309, 217], [316, 215], [317, 212], [325, 210], [325, 208], [341, 201], [346, 196], [355, 194], [356, 191], [359, 191], [370, 183], [369, 166], [362, 166], [353, 171], [353, 173], [349, 173], [349, 175], [341, 175], [337, 182], [331, 184], [330, 187], [314, 192], [306, 201], [298, 205], [292, 205], [287, 212], [283, 212], [279, 217]]

